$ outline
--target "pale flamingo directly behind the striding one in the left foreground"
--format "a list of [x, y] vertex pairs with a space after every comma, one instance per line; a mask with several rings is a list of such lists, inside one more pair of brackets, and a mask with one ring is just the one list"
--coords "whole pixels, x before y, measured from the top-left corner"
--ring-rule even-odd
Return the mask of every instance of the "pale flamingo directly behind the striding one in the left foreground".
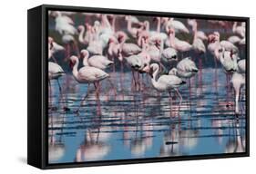
[[112, 61], [109, 61], [108, 58], [103, 55], [93, 55], [88, 59], [89, 52], [85, 49], [81, 51], [81, 54], [84, 57], [84, 61], [83, 61], [84, 65], [88, 63], [89, 66], [93, 66], [101, 70], [107, 69], [109, 66], [111, 66], [114, 63]]

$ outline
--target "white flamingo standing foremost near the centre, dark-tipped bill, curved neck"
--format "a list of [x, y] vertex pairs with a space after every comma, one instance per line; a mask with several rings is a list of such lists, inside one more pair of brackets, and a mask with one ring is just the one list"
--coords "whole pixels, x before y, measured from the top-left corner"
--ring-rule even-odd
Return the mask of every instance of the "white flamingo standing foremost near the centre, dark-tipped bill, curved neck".
[[151, 82], [153, 87], [159, 92], [169, 92], [169, 98], [171, 98], [170, 91], [173, 89], [179, 95], [179, 107], [182, 103], [182, 96], [179, 93], [179, 87], [186, 82], [182, 81], [176, 75], [161, 75], [159, 79], [157, 79], [157, 75], [159, 74], [159, 64], [152, 63], [150, 64], [150, 72]]

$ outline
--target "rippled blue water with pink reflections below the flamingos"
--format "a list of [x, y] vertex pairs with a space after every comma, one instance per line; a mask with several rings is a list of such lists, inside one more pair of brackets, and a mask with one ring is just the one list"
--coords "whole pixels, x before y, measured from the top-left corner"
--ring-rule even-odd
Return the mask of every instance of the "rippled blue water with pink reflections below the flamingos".
[[[109, 70], [111, 72], [111, 70]], [[62, 94], [52, 81], [49, 97], [49, 162], [121, 160], [245, 151], [245, 91], [241, 115], [234, 116], [234, 92], [222, 69], [204, 69], [179, 89], [155, 91], [145, 74], [140, 90], [131, 73], [110, 73], [101, 83], [99, 101], [91, 84], [72, 75], [60, 78]], [[141, 77], [140, 77], [141, 79]], [[67, 107], [70, 111], [64, 111]]]

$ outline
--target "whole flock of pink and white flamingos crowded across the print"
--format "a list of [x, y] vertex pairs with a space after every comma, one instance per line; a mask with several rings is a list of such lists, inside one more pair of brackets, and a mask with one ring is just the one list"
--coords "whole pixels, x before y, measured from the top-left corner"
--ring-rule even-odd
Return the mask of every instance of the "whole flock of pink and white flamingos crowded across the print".
[[[72, 17], [74, 14], [82, 16], [85, 24], [76, 24]], [[244, 49], [246, 44], [244, 22], [208, 20], [207, 23], [216, 31], [207, 34], [200, 30], [197, 19], [188, 19], [185, 24], [185, 20], [181, 22], [172, 17], [156, 16], [151, 17], [152, 20], [142, 21], [143, 17], [133, 15], [64, 11], [50, 11], [49, 16], [54, 18], [55, 31], [60, 35], [59, 42], [62, 42], [57, 43], [53, 36], [48, 36], [49, 85], [51, 80], [58, 82], [58, 78], [67, 73], [55, 58], [56, 53], [65, 52], [63, 62], [69, 63], [75, 80], [88, 86], [93, 83], [97, 99], [102, 81], [108, 80], [116, 93], [115, 83], [111, 82], [114, 77], [111, 77], [108, 69], [111, 68], [114, 74], [116, 71], [124, 72], [126, 66], [132, 73], [136, 90], [141, 90], [143, 78], [148, 74], [153, 88], [158, 92], [169, 92], [170, 99], [171, 91], [176, 92], [180, 106], [182, 92], [179, 92], [179, 87], [186, 82], [190, 85], [189, 79], [201, 72], [202, 59], [209, 52], [214, 59], [215, 69], [221, 64], [227, 74], [227, 82], [232, 83], [235, 113], [240, 113], [240, 91], [245, 84], [246, 73], [246, 59], [240, 57], [241, 48]], [[121, 26], [117, 21], [127, 24], [127, 28], [119, 30]], [[223, 28], [232, 32], [226, 40], [220, 40], [220, 30]], [[180, 35], [192, 38], [192, 42], [182, 40]], [[82, 45], [82, 49], [78, 44]], [[191, 58], [190, 53], [196, 54], [198, 60]], [[167, 63], [172, 65], [168, 66]], [[59, 82], [58, 86], [61, 92]], [[88, 92], [77, 112], [87, 99]]]

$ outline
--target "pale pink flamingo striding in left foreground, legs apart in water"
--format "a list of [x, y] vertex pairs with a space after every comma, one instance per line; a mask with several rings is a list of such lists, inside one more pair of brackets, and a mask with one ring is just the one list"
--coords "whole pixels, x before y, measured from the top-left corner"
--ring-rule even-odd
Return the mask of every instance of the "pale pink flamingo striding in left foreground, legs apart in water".
[[[86, 64], [84, 67], [78, 70], [78, 64], [79, 64], [78, 57], [75, 55], [72, 55], [70, 57], [70, 65], [72, 68], [73, 76], [79, 83], [87, 83], [88, 86], [90, 83], [94, 83], [96, 87], [97, 98], [98, 98], [98, 91], [99, 91], [98, 84], [100, 81], [103, 81], [104, 79], [108, 78], [109, 74], [98, 68], [88, 66], [88, 64]], [[80, 105], [76, 112], [80, 110], [82, 103], [87, 99], [87, 96], [88, 96], [88, 89], [87, 89], [87, 94], [85, 95], [83, 100], [80, 102]]]

